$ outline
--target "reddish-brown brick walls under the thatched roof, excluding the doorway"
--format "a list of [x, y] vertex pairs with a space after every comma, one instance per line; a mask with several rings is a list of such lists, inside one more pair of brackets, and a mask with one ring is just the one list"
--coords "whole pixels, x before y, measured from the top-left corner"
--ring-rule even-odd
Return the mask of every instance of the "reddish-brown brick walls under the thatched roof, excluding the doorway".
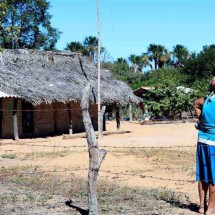
[[[2, 99], [2, 138], [13, 138], [13, 98]], [[25, 137], [22, 131], [22, 100], [18, 99], [18, 132]], [[90, 105], [90, 116], [95, 130], [97, 126], [97, 105]], [[70, 112], [70, 113], [69, 113]], [[84, 124], [80, 103], [68, 104], [54, 102], [40, 104], [34, 107], [34, 134], [35, 137], [53, 136], [69, 133], [70, 117], [73, 133], [83, 132]]]

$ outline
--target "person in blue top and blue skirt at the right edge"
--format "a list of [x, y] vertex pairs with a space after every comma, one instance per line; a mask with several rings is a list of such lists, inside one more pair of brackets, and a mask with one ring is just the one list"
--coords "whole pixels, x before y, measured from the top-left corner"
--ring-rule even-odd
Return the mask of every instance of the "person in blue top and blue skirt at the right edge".
[[[196, 180], [199, 181], [199, 213], [215, 215], [215, 77], [210, 82], [210, 95], [195, 101], [200, 120], [196, 152]], [[209, 203], [206, 195], [209, 188]]]

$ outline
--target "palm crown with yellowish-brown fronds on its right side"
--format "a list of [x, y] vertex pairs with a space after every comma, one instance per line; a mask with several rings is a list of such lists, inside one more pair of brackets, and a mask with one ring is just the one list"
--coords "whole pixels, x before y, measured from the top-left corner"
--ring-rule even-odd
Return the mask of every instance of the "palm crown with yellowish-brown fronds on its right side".
[[162, 45], [150, 44], [147, 53], [150, 61], [154, 61], [154, 68], [162, 68], [170, 59], [170, 53]]

